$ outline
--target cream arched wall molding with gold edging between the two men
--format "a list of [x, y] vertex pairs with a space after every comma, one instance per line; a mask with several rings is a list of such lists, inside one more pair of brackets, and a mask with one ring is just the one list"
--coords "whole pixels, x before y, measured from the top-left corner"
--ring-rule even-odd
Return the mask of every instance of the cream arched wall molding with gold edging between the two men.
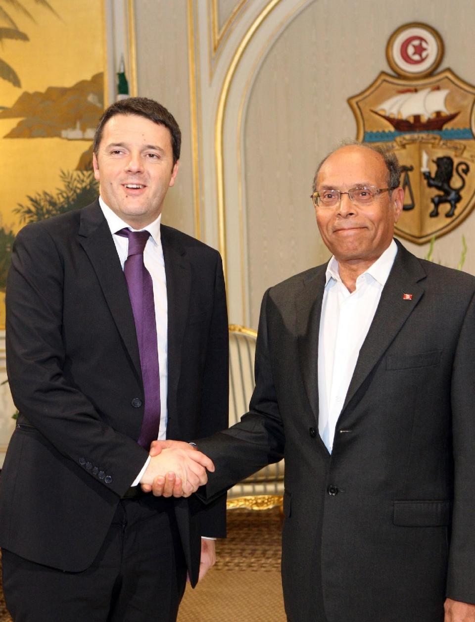
[[[288, 23], [312, 0], [255, 0], [236, 14], [233, 29], [210, 67], [210, 55], [200, 53], [199, 136], [203, 192], [203, 231], [206, 243], [223, 256], [229, 317], [249, 323], [248, 253], [242, 163], [245, 103], [259, 63]], [[209, 41], [213, 27], [205, 3], [194, 3], [193, 28]], [[212, 69], [212, 71], [211, 71]], [[244, 111], [244, 114], [243, 114]]]

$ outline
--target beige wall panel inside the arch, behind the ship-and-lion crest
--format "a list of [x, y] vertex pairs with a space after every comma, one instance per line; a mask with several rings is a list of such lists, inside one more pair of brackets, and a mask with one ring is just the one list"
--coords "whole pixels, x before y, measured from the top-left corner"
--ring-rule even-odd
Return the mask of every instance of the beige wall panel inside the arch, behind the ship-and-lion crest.
[[[430, 23], [445, 40], [441, 67], [475, 82], [473, 8], [472, 0], [451, 6], [443, 1], [315, 1], [269, 50], [252, 87], [245, 131], [253, 326], [265, 287], [328, 258], [308, 198], [311, 179], [335, 142], [356, 136], [347, 98], [369, 86], [381, 70], [392, 73], [385, 59], [390, 34], [405, 22]], [[469, 247], [465, 267], [475, 272], [474, 218], [436, 241], [436, 260], [456, 266], [464, 234]], [[406, 246], [418, 256], [427, 254], [427, 245]]]

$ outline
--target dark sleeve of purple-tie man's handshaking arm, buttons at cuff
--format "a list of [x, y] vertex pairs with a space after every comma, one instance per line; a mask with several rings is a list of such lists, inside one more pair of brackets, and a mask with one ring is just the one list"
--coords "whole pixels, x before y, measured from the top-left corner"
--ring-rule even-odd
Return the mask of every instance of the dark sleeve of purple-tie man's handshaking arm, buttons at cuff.
[[25, 417], [58, 452], [121, 495], [141, 470], [147, 452], [104, 422], [65, 374], [63, 266], [45, 222], [27, 225], [17, 235], [6, 294], [12, 396], [20, 421]]

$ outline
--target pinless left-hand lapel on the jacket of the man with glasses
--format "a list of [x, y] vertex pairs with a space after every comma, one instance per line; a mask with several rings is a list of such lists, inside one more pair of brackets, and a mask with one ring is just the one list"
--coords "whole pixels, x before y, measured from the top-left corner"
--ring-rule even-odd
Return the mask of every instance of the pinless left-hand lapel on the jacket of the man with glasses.
[[297, 347], [308, 402], [318, 422], [318, 332], [325, 289], [326, 264], [304, 279], [295, 295]]

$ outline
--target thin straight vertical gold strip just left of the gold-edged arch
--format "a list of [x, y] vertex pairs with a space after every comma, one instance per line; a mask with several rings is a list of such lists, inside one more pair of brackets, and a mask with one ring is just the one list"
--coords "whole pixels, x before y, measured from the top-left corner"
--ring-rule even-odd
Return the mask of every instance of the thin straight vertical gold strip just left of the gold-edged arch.
[[[196, 97], [196, 85], [200, 83], [197, 78], [197, 63], [195, 51], [195, 20], [193, 16], [193, 0], [188, 0], [188, 85], [190, 89], [190, 121], [191, 121], [191, 167], [193, 175], [193, 203], [195, 208], [195, 238], [201, 239], [200, 220], [200, 160], [198, 154], [198, 102]], [[199, 58], [198, 58], [199, 62]]]

